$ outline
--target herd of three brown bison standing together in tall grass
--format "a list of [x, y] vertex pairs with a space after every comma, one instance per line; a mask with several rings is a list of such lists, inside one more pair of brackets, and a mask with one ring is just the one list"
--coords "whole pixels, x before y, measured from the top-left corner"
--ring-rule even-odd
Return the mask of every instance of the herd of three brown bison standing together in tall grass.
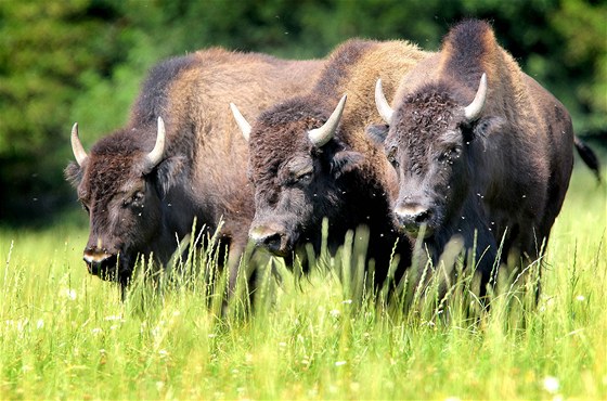
[[439, 266], [457, 244], [482, 295], [499, 267], [541, 258], [573, 147], [598, 171], [563, 104], [470, 20], [438, 52], [353, 39], [324, 60], [212, 48], [162, 62], [125, 128], [87, 152], [74, 126], [65, 172], [89, 215], [88, 271], [122, 287], [194, 224], [219, 233], [230, 290], [247, 244], [306, 266], [365, 227], [375, 285], [415, 249]]

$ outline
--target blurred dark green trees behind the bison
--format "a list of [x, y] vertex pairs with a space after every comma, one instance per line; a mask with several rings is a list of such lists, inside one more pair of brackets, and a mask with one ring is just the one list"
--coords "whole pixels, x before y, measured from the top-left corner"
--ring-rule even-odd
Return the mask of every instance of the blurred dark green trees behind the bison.
[[72, 125], [89, 148], [125, 124], [162, 59], [211, 46], [324, 57], [351, 37], [437, 50], [466, 17], [491, 22], [502, 47], [568, 107], [577, 133], [605, 152], [603, 0], [2, 0], [0, 225], [74, 216], [76, 194], [63, 178]]

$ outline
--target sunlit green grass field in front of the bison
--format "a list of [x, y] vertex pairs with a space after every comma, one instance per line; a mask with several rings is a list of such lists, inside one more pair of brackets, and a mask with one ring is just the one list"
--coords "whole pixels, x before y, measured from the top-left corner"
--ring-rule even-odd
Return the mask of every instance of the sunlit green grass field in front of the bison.
[[577, 167], [538, 307], [505, 288], [473, 320], [461, 287], [404, 312], [280, 267], [248, 319], [218, 318], [204, 280], [121, 302], [86, 273], [87, 227], [4, 229], [0, 399], [607, 399], [606, 225]]

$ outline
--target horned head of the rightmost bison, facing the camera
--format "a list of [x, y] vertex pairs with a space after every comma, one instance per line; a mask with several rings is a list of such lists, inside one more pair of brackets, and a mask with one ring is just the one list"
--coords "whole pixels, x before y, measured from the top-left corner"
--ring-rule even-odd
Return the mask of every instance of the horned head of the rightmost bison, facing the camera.
[[398, 227], [408, 234], [416, 236], [425, 227], [429, 237], [454, 219], [465, 219], [462, 207], [472, 176], [478, 173], [473, 146], [499, 125], [495, 118], [482, 117], [486, 95], [483, 74], [469, 104], [462, 101], [469, 96], [468, 90], [438, 82], [404, 96], [392, 109], [377, 81], [376, 105], [388, 128], [373, 134], [384, 142], [399, 176], [392, 208]]

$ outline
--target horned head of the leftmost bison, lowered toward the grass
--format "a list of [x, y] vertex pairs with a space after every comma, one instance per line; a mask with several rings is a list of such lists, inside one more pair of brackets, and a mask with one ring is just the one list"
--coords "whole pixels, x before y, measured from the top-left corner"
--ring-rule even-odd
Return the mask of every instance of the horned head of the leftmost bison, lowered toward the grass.
[[83, 253], [88, 270], [121, 284], [129, 280], [138, 255], [151, 250], [162, 220], [158, 181], [165, 125], [158, 118], [152, 150], [133, 144], [139, 134], [143, 137], [133, 132], [118, 131], [99, 141], [89, 155], [75, 124], [72, 148], [76, 163], [66, 168], [66, 177], [89, 214], [90, 233]]

